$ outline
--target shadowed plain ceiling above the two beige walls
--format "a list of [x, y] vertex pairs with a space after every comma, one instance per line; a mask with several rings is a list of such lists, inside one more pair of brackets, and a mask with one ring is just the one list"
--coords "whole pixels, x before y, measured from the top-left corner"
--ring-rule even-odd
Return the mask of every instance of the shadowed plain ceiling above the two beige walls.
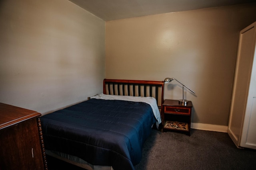
[[256, 2], [256, 0], [69, 0], [104, 21]]

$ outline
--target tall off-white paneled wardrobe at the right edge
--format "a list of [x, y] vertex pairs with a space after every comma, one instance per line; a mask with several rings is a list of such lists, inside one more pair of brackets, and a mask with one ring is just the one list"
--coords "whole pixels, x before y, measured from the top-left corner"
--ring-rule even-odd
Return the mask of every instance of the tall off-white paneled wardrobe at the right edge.
[[240, 31], [228, 134], [237, 147], [256, 149], [256, 22]]

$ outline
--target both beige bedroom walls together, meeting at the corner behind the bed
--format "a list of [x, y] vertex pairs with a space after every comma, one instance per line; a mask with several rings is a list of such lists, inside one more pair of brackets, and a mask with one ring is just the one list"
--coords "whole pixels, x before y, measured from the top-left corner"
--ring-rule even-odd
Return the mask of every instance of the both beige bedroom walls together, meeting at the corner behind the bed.
[[[49, 113], [102, 92], [106, 78], [174, 77], [196, 94], [194, 123], [227, 125], [238, 33], [256, 5], [105, 22], [68, 0], [1, 0], [0, 102]], [[165, 98], [181, 99], [176, 82]]]

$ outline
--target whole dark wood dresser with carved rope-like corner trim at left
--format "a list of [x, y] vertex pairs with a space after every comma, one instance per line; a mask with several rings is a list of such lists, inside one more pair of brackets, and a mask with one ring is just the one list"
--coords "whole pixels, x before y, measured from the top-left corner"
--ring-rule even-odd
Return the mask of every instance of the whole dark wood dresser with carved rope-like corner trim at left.
[[0, 170], [47, 170], [41, 114], [0, 103]]

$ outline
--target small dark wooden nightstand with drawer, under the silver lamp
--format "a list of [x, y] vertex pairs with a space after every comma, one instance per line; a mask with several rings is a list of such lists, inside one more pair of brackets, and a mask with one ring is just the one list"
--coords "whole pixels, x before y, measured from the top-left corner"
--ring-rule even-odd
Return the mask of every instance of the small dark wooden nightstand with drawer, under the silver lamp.
[[180, 131], [190, 136], [192, 102], [186, 106], [179, 104], [178, 100], [164, 100], [162, 109], [163, 132]]

